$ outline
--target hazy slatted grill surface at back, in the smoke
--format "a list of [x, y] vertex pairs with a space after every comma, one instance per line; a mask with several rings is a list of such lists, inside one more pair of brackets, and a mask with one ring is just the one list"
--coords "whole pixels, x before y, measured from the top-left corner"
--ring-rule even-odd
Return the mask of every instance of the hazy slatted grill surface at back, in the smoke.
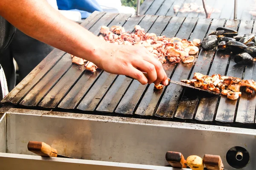
[[[210, 18], [234, 18], [234, 0], [205, 0], [206, 5], [211, 8], [218, 8], [220, 13], [212, 13]], [[174, 12], [175, 5], [183, 6], [184, 3], [196, 3], [202, 6], [202, 0], [144, 0], [140, 6], [140, 14], [177, 16], [177, 17], [205, 17], [204, 13], [196, 12]], [[249, 11], [256, 11], [255, 0], [238, 0], [237, 2], [237, 19], [239, 20], [254, 20]], [[208, 13], [211, 11], [208, 11]]]

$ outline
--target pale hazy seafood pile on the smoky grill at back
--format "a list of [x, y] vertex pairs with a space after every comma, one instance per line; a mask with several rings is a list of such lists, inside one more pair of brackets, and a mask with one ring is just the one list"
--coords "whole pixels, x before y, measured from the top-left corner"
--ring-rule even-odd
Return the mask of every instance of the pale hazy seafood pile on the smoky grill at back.
[[[210, 13], [220, 13], [221, 10], [217, 8], [212, 8], [210, 6], [206, 6], [207, 11]], [[196, 3], [184, 3], [183, 6], [175, 5], [173, 7], [174, 12], [196, 12], [196, 13], [204, 13], [204, 6], [199, 6]]]

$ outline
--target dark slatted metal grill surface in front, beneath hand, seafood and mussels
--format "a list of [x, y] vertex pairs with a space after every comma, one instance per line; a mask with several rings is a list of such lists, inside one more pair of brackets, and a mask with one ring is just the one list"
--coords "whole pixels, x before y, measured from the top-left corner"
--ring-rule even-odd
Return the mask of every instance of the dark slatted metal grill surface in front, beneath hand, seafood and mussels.
[[[129, 20], [128, 20], [129, 19]], [[81, 25], [98, 35], [100, 26], [122, 25], [134, 31], [139, 24], [145, 31], [166, 37], [201, 40], [217, 27], [228, 27], [239, 34], [256, 33], [254, 21], [164, 17], [94, 12]], [[256, 79], [256, 65], [236, 65], [227, 51], [201, 50], [194, 63], [165, 64], [167, 75], [180, 81], [191, 79], [195, 72]], [[211, 125], [255, 128], [256, 98], [243, 94], [237, 101], [225, 96], [207, 96], [169, 85], [154, 90], [122, 75], [97, 70], [85, 71], [72, 64], [70, 54], [55, 49], [19, 85], [3, 103], [16, 107], [115, 116], [143, 117]]]

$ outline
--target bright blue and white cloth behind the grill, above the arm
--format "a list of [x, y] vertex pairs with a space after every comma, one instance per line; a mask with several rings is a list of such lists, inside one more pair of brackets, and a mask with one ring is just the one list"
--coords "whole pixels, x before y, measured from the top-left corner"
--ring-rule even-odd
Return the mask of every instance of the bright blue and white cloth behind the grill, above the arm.
[[87, 18], [94, 11], [103, 11], [96, 0], [57, 0], [58, 9], [79, 11], [82, 18]]

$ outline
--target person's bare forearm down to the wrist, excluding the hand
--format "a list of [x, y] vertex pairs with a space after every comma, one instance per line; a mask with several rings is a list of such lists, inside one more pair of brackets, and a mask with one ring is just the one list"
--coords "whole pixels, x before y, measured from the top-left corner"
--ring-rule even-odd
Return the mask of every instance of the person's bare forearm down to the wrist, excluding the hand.
[[101, 43], [106, 43], [45, 0], [1, 0], [0, 15], [25, 34], [92, 62], [99, 61], [97, 51], [101, 51]]

